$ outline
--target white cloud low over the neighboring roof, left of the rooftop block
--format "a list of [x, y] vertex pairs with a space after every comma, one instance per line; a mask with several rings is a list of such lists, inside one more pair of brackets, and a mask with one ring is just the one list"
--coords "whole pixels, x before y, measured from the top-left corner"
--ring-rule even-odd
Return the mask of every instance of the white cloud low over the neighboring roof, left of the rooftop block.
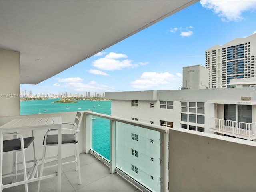
[[149, 89], [155, 86], [168, 85], [172, 80], [177, 80], [180, 75], [173, 75], [168, 72], [144, 72], [138, 80], [131, 82], [133, 88]]

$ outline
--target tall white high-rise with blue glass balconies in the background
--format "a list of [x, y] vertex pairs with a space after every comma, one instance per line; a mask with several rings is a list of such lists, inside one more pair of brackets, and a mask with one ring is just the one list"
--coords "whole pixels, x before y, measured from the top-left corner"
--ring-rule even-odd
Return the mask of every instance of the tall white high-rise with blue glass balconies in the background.
[[207, 49], [205, 64], [209, 69], [209, 88], [227, 88], [232, 79], [256, 77], [255, 58], [256, 34]]

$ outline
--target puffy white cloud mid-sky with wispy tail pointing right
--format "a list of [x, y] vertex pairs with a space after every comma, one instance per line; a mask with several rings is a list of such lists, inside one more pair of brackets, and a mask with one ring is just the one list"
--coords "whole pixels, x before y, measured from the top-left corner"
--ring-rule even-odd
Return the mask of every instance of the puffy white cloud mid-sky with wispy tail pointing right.
[[92, 62], [92, 66], [100, 70], [121, 70], [122, 68], [136, 68], [140, 65], [146, 65], [148, 62], [139, 62], [134, 64], [132, 60], [122, 59], [127, 58], [128, 56], [121, 53], [110, 52], [104, 58], [99, 58]]

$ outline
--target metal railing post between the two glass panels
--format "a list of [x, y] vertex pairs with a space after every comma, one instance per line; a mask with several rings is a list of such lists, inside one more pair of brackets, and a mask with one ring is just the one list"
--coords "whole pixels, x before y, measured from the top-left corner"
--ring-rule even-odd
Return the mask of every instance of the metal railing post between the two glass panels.
[[110, 120], [110, 173], [116, 172], [116, 121]]

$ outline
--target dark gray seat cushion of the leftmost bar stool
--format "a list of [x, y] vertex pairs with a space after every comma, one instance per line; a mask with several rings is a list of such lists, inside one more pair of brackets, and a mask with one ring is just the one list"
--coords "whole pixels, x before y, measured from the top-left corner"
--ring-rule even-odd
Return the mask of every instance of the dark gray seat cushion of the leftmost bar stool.
[[[34, 137], [24, 138], [23, 139], [24, 140], [24, 148], [28, 148], [28, 146], [32, 143], [32, 141], [34, 139], [35, 139]], [[5, 140], [3, 142], [3, 152], [20, 150], [20, 149], [21, 149], [20, 138]]]

